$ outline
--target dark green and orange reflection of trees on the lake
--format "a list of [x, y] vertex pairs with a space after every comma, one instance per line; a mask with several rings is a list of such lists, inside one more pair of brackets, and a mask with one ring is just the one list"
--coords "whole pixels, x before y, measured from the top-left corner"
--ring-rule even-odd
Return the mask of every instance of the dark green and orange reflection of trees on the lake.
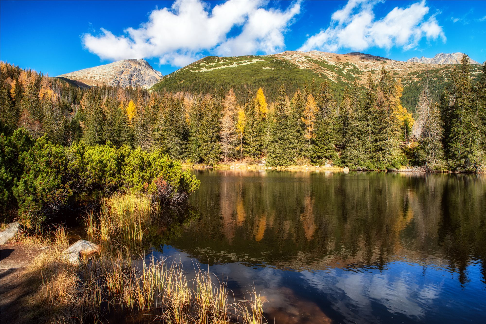
[[[181, 238], [173, 241], [194, 256], [200, 248], [214, 252], [209, 262], [385, 269], [405, 256], [424, 267], [458, 271], [461, 283], [467, 282], [470, 256], [484, 262], [481, 176], [253, 171], [197, 176], [202, 185], [191, 202], [201, 217], [181, 227]], [[484, 267], [483, 273], [486, 278]]]

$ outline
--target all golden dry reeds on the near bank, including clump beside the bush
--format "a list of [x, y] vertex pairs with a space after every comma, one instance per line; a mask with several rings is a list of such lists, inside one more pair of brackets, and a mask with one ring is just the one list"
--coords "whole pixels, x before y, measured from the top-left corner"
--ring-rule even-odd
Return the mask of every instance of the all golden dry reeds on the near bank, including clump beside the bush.
[[36, 257], [30, 275], [42, 283], [35, 294], [43, 323], [107, 323], [121, 313], [139, 322], [168, 324], [260, 324], [262, 299], [255, 290], [250, 298], [231, 300], [226, 284], [196, 269], [188, 279], [182, 264], [173, 259], [144, 260], [115, 236], [141, 240], [143, 228], [158, 212], [143, 196], [117, 195], [103, 202], [95, 220], [86, 218], [87, 232], [98, 239], [100, 252], [73, 266], [62, 258], [68, 246], [63, 227], [53, 231], [50, 249]]

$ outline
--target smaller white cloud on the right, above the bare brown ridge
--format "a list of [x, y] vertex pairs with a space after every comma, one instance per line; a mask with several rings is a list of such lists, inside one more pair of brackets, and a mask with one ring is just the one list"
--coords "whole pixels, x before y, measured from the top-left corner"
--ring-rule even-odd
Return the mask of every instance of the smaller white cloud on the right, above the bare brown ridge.
[[347, 5], [332, 14], [330, 26], [312, 35], [299, 51], [337, 51], [341, 48], [363, 51], [369, 47], [389, 50], [402, 47], [416, 48], [423, 38], [435, 40], [446, 36], [434, 16], [426, 18], [429, 7], [425, 1], [405, 8], [395, 7], [385, 17], [375, 19], [373, 1], [348, 1]]

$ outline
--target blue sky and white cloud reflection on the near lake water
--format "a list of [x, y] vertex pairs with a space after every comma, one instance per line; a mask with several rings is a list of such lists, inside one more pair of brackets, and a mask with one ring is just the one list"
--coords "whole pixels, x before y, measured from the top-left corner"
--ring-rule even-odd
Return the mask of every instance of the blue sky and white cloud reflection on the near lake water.
[[[153, 254], [156, 258], [174, 256], [174, 260], [180, 259], [188, 272], [187, 277], [193, 277], [191, 270], [198, 262], [191, 255], [169, 246], [164, 246], [163, 253]], [[208, 270], [207, 264], [200, 264], [200, 267]], [[330, 318], [336, 323], [431, 320], [459, 323], [477, 316], [477, 303], [484, 297], [483, 286], [472, 285], [468, 286], [467, 295], [462, 292], [463, 298], [455, 300], [462, 289], [456, 280], [448, 282], [439, 269], [425, 275], [421, 267], [405, 262], [389, 263], [386, 271], [328, 268], [294, 272], [266, 265], [249, 267], [238, 262], [214, 264], [209, 271], [215, 279], [223, 279], [237, 299], [255, 287], [257, 293], [268, 300], [264, 311], [270, 323], [274, 318], [276, 323], [289, 324], [329, 323]], [[479, 274], [480, 267], [469, 271]], [[461, 309], [461, 312], [445, 312], [449, 307]]]

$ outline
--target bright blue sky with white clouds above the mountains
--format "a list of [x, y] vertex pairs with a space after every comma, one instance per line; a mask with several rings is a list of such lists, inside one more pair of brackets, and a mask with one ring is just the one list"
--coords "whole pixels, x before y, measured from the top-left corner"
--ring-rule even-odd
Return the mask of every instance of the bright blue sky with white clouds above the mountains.
[[0, 60], [51, 76], [126, 58], [361, 51], [486, 60], [486, 1], [0, 1]]

